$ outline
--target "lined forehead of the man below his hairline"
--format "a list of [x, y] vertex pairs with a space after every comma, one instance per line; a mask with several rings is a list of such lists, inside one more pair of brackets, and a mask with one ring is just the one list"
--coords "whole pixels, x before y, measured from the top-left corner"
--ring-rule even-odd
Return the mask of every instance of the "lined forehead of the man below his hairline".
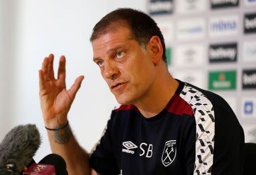
[[101, 52], [107, 52], [118, 45], [129, 45], [129, 41], [133, 40], [131, 31], [127, 27], [118, 27], [113, 31], [109, 31], [92, 42], [94, 56]]

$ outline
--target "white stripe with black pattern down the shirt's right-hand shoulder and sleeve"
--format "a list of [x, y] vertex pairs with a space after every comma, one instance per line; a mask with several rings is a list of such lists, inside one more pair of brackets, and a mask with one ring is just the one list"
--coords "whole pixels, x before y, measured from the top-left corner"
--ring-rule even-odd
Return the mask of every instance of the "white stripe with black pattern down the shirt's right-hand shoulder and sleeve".
[[194, 111], [196, 121], [195, 170], [197, 174], [211, 174], [214, 150], [214, 110], [209, 99], [200, 91], [185, 84], [180, 97], [187, 101]]

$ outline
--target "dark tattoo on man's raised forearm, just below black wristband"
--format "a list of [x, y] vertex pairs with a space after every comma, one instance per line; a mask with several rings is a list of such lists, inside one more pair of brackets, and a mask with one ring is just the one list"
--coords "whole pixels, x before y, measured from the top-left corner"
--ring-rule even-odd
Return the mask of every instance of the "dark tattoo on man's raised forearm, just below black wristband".
[[[63, 126], [60, 126], [60, 127], [63, 127]], [[57, 142], [59, 144], [67, 143], [68, 140], [71, 138], [71, 135], [72, 135], [72, 133], [71, 133], [71, 129], [69, 126], [64, 127], [64, 129], [54, 131], [55, 142]]]

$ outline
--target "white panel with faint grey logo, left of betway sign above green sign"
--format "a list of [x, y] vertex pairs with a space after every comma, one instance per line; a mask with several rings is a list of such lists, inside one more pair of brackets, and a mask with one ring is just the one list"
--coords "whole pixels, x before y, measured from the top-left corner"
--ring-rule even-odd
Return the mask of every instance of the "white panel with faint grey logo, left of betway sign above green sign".
[[174, 66], [191, 67], [205, 64], [207, 48], [202, 44], [179, 45], [174, 49]]

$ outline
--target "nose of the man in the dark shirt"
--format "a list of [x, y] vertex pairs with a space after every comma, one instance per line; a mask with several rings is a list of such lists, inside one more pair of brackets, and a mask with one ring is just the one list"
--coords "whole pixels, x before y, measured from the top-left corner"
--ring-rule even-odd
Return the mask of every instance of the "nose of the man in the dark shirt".
[[115, 63], [111, 61], [105, 61], [104, 62], [104, 71], [102, 76], [104, 76], [105, 79], [114, 79], [118, 75], [118, 68]]

